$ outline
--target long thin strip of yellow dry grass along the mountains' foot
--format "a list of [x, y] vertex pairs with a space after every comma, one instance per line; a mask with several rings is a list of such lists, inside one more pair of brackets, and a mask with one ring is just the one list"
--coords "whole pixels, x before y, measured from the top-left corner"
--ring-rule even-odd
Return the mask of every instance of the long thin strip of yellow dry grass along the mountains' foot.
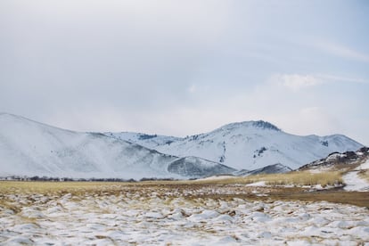
[[[367, 172], [361, 174], [367, 176]], [[201, 179], [193, 181], [146, 181], [139, 183], [124, 182], [0, 182], [0, 193], [113, 193], [124, 190], [132, 190], [143, 186], [168, 187], [170, 185], [193, 185], [204, 184], [250, 184], [265, 181], [271, 185], [316, 185], [322, 186], [342, 184], [340, 172], [310, 173], [291, 172], [288, 174], [257, 175], [257, 176], [230, 176], [222, 179]]]

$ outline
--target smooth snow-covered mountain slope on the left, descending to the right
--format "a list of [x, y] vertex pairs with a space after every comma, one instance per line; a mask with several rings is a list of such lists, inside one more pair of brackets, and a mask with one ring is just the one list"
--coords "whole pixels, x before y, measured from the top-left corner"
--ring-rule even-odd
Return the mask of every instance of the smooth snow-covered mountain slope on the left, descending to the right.
[[188, 178], [234, 172], [198, 157], [162, 154], [99, 133], [0, 113], [0, 176]]

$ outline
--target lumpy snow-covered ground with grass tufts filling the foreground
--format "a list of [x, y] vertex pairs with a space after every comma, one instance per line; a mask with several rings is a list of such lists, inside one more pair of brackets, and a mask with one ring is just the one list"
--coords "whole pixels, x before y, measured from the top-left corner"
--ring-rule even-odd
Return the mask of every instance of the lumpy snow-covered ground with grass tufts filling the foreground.
[[218, 196], [232, 193], [226, 187], [133, 187], [3, 193], [0, 244], [369, 245], [367, 208]]

